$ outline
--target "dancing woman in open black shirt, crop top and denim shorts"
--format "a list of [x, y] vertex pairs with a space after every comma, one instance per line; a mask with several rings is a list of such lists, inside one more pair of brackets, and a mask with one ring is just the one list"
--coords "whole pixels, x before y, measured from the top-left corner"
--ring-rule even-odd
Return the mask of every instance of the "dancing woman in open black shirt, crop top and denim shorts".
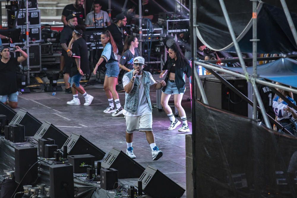
[[171, 94], [174, 94], [174, 105], [181, 116], [181, 121], [183, 122], [183, 125], [178, 129], [178, 131], [190, 132], [186, 113], [184, 108], [181, 106], [181, 100], [186, 90], [185, 75], [187, 75], [187, 77], [192, 75], [191, 66], [189, 61], [181, 53], [179, 45], [173, 44], [169, 47], [168, 52], [170, 59], [166, 61], [163, 67], [163, 72], [160, 74], [160, 78], [162, 78], [168, 71], [165, 78], [166, 86], [163, 87], [161, 95], [162, 107], [170, 119], [170, 126], [168, 127], [168, 130], [173, 130], [181, 124], [181, 122], [174, 117], [172, 110], [168, 105]]

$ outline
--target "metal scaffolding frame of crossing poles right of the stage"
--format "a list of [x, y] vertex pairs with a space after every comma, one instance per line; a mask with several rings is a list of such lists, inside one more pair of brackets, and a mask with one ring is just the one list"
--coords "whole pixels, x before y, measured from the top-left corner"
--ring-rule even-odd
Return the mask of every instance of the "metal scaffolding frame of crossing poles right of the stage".
[[[266, 86], [270, 87], [274, 93], [279, 93], [275, 88], [280, 88], [280, 89], [283, 89], [285, 91], [290, 91], [290, 92], [293, 92], [293, 93], [297, 94], [297, 89], [295, 89], [295, 88], [290, 88], [290, 87], [283, 86], [283, 85], [276, 85], [274, 83], [270, 83], [270, 82], [267, 82], [265, 80], [260, 80], [260, 79], [257, 78], [257, 70], [256, 70], [256, 68], [257, 68], [257, 42], [259, 41], [257, 39], [257, 1], [258, 0], [251, 0], [251, 1], [252, 1], [252, 9], [253, 9], [252, 10], [252, 22], [253, 22], [252, 32], [253, 32], [253, 37], [252, 37], [252, 39], [250, 39], [250, 41], [252, 42], [252, 45], [253, 45], [253, 58], [252, 58], [253, 75], [249, 75], [248, 72], [247, 72], [246, 65], [244, 63], [244, 58], [242, 57], [241, 50], [240, 50], [238, 42], [236, 40], [236, 36], [235, 36], [234, 31], [233, 31], [233, 27], [231, 25], [231, 21], [230, 21], [230, 18], [228, 16], [228, 12], [227, 12], [227, 9], [225, 7], [224, 0], [219, 0], [220, 6], [222, 8], [222, 11], [223, 11], [223, 14], [224, 14], [224, 17], [225, 17], [225, 20], [226, 20], [226, 23], [227, 23], [227, 26], [228, 26], [228, 29], [229, 29], [230, 36], [232, 38], [232, 41], [234, 43], [234, 47], [236, 49], [236, 53], [238, 55], [239, 62], [241, 64], [242, 69], [244, 70], [244, 75], [243, 75], [243, 74], [239, 74], [239, 73], [227, 70], [227, 69], [222, 69], [219, 66], [206, 64], [204, 61], [198, 61], [197, 60], [197, 53], [196, 53], [196, 51], [197, 51], [197, 49], [196, 49], [196, 46], [197, 46], [197, 26], [198, 26], [197, 23], [196, 23], [197, 4], [196, 4], [196, 0], [190, 0], [190, 37], [192, 38], [191, 39], [191, 61], [192, 61], [192, 73], [194, 74], [193, 77], [192, 77], [193, 78], [192, 79], [192, 123], [193, 123], [192, 124], [193, 174], [192, 175], [193, 175], [193, 186], [194, 186], [193, 197], [197, 197], [197, 194], [196, 194], [196, 181], [195, 181], [195, 178], [196, 178], [196, 170], [195, 170], [196, 169], [196, 159], [195, 159], [195, 156], [194, 156], [195, 155], [195, 136], [197, 135], [196, 134], [196, 132], [197, 132], [196, 129], [198, 129], [197, 126], [195, 125], [195, 121], [196, 121], [195, 120], [195, 95], [196, 95], [195, 91], [196, 90], [194, 89], [195, 88], [195, 86], [194, 86], [195, 83], [197, 83], [197, 85], [198, 85], [198, 88], [199, 88], [203, 103], [208, 104], [206, 94], [204, 92], [204, 89], [203, 89], [200, 77], [198, 75], [196, 66], [200, 65], [200, 66], [205, 67], [208, 70], [211, 70], [211, 73], [213, 73], [216, 77], [218, 77], [222, 81], [222, 83], [224, 83], [225, 85], [228, 85], [228, 87], [231, 88], [231, 90], [235, 91], [236, 94], [241, 96], [250, 105], [253, 105], [253, 118], [254, 119], [256, 119], [257, 110], [260, 110], [262, 115], [263, 115], [266, 127], [269, 128], [269, 129], [271, 129], [271, 125], [270, 125], [269, 120], [268, 120], [268, 115], [265, 112], [265, 108], [264, 108], [262, 99], [260, 97], [259, 91], [257, 89], [256, 83], [266, 85]], [[293, 37], [294, 37], [295, 42], [297, 44], [296, 28], [295, 28], [294, 23], [292, 21], [292, 18], [290, 16], [290, 12], [289, 12], [289, 10], [287, 8], [287, 4], [286, 4], [285, 0], [280, 0], [280, 2], [282, 4], [282, 7], [284, 9], [287, 21], [288, 21], [290, 29], [292, 31]], [[262, 3], [262, 2], [259, 1], [259, 3]], [[236, 88], [234, 88], [232, 85], [230, 85], [230, 83], [228, 84], [228, 82], [224, 78], [220, 77], [219, 74], [214, 72], [214, 70], [219, 71], [219, 72], [224, 72], [226, 74], [230, 74], [230, 75], [236, 76], [238, 78], [245, 79], [245, 80], [247, 80], [247, 82], [250, 82], [252, 84], [252, 86], [253, 86], [253, 91], [254, 91], [253, 101], [254, 102], [252, 102], [246, 96], [244, 96], [242, 93], [240, 93]], [[279, 94], [279, 95], [281, 95], [281, 94]], [[285, 97], [282, 97], [282, 96], [280, 96], [280, 97], [285, 98]], [[257, 106], [257, 103], [259, 104], [260, 107]], [[296, 107], [294, 107], [294, 109], [296, 109]], [[270, 117], [270, 119], [273, 119], [273, 118]], [[275, 121], [275, 123], [279, 126], [279, 124], [276, 121]], [[275, 138], [272, 138], [272, 141], [275, 142]], [[278, 148], [276, 148], [276, 149], [278, 149]], [[220, 150], [221, 150], [221, 148], [220, 148]], [[222, 152], [224, 152], [224, 151], [222, 151]], [[284, 164], [284, 163], [282, 163], [282, 164]], [[228, 162], [226, 163], [226, 165], [228, 166]], [[285, 175], [285, 176], [286, 176], [286, 178], [288, 178], [287, 175]], [[234, 193], [236, 195], [235, 189], [234, 188], [232, 188], [232, 189], [234, 190]], [[290, 185], [290, 191], [291, 191], [291, 193], [293, 195], [295, 194], [292, 185]]]

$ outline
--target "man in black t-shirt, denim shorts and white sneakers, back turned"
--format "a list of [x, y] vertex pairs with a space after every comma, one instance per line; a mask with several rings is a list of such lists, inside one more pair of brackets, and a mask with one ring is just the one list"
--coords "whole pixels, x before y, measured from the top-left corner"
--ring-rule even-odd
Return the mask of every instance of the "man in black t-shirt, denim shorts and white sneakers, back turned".
[[80, 85], [80, 79], [83, 74], [90, 74], [89, 60], [88, 60], [88, 47], [86, 41], [82, 38], [83, 27], [80, 25], [75, 26], [72, 33], [72, 37], [75, 40], [72, 45], [72, 57], [75, 58], [75, 63], [72, 64], [69, 83], [71, 86], [73, 99], [67, 104], [69, 105], [80, 105], [78, 99], [78, 92], [83, 95], [86, 102], [84, 106], [89, 106], [93, 101], [94, 97], [87, 94], [85, 89]]

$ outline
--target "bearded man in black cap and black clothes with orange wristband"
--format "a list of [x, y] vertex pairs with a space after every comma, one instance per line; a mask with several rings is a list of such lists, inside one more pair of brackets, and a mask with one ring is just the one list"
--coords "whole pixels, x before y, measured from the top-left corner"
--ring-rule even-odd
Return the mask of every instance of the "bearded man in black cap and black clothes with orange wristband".
[[71, 94], [70, 84], [68, 83], [70, 69], [72, 66], [72, 51], [68, 49], [68, 44], [72, 39], [72, 33], [74, 27], [77, 25], [77, 18], [74, 14], [67, 16], [67, 26], [61, 31], [60, 43], [63, 48], [62, 50], [62, 59], [63, 62], [60, 63], [60, 70], [64, 73], [64, 83], [65, 83], [65, 93]]

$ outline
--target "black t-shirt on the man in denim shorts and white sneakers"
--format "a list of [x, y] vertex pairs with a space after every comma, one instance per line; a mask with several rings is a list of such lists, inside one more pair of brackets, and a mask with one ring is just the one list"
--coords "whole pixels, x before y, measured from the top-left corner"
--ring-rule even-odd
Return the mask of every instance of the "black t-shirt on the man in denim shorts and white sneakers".
[[78, 74], [75, 58], [80, 58], [80, 69], [84, 74], [90, 74], [89, 59], [88, 59], [88, 46], [83, 38], [79, 38], [73, 42], [72, 45], [73, 64], [70, 72], [70, 77]]

